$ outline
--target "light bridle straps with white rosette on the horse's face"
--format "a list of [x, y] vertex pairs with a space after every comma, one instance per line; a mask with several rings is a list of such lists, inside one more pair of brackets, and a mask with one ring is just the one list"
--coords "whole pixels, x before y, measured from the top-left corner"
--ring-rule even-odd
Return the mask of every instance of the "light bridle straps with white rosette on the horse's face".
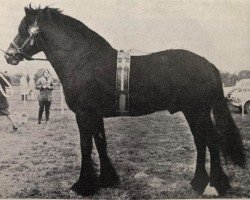
[[37, 26], [37, 21], [35, 20], [35, 23], [33, 25], [29, 26], [28, 29], [28, 33], [29, 33], [29, 37], [25, 40], [25, 42], [23, 43], [23, 45], [21, 47], [19, 47], [14, 40], [11, 42], [11, 44], [15, 47], [15, 49], [17, 50], [18, 53], [23, 53], [23, 49], [26, 47], [26, 45], [28, 43], [30, 43], [30, 45], [32, 46], [34, 44], [34, 39], [35, 36], [39, 33], [39, 27]]

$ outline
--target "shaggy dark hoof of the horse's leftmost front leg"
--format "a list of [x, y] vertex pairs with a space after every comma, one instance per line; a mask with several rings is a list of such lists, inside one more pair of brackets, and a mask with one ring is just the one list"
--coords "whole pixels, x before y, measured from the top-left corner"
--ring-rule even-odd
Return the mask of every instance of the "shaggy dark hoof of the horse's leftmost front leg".
[[73, 190], [75, 193], [81, 196], [91, 196], [96, 194], [99, 187], [97, 183], [91, 183], [90, 181], [77, 181], [73, 184], [71, 187], [71, 190]]

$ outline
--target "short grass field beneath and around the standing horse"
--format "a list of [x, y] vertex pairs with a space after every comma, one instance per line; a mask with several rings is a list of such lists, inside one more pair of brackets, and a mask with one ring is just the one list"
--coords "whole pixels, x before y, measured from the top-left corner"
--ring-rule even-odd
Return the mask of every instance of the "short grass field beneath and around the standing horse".
[[[57, 93], [58, 95], [58, 93]], [[38, 102], [21, 106], [10, 98], [11, 111], [26, 111], [29, 121], [16, 133], [1, 119], [0, 198], [82, 198], [69, 188], [80, 173], [80, 142], [71, 111], [60, 112], [52, 104], [51, 123], [37, 122]], [[250, 158], [250, 115], [232, 108]], [[200, 198], [189, 181], [193, 177], [196, 150], [181, 113], [105, 119], [108, 151], [121, 178], [117, 188], [100, 189], [94, 199]], [[97, 157], [95, 151], [93, 156]], [[209, 159], [209, 158], [208, 158]], [[97, 166], [98, 167], [98, 166]], [[209, 167], [209, 166], [208, 166]], [[249, 164], [248, 164], [249, 168]], [[250, 198], [249, 169], [224, 165], [232, 189], [226, 198]]]

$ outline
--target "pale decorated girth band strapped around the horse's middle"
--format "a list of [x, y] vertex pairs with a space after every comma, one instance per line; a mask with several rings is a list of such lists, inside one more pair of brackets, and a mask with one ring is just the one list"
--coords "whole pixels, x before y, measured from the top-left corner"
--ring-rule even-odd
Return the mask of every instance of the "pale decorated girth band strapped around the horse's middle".
[[119, 50], [116, 71], [116, 112], [118, 115], [129, 114], [129, 73], [131, 51]]

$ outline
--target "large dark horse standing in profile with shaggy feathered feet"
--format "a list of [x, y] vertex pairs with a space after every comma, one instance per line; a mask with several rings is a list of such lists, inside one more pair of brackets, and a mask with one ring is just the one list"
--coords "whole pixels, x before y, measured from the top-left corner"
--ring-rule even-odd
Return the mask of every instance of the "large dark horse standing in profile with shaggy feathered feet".
[[[43, 51], [61, 80], [66, 102], [76, 115], [80, 131], [81, 173], [72, 189], [90, 195], [99, 187], [116, 185], [119, 178], [107, 155], [103, 118], [117, 115], [117, 50], [58, 9], [29, 7], [25, 13], [5, 58], [9, 64], [17, 65]], [[197, 148], [191, 185], [202, 193], [210, 183], [223, 195], [230, 184], [221, 166], [220, 151], [241, 167], [245, 166], [246, 158], [239, 129], [224, 99], [219, 71], [192, 52], [166, 50], [132, 56], [130, 75], [130, 116], [182, 111]], [[91, 161], [92, 138], [100, 158], [99, 177]], [[210, 176], [205, 170], [206, 147], [211, 157]]]

